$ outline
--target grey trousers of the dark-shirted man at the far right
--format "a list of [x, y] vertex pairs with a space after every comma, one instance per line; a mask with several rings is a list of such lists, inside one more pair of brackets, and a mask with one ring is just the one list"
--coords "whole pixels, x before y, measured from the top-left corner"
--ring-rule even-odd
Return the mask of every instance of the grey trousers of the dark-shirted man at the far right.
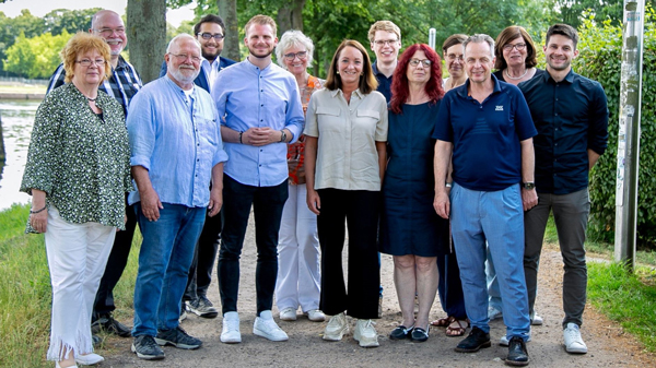
[[567, 323], [583, 324], [587, 289], [587, 266], [585, 262], [585, 230], [590, 212], [588, 190], [583, 189], [569, 194], [538, 193], [538, 205], [524, 214], [526, 250], [524, 252], [524, 273], [528, 289], [528, 307], [532, 316], [538, 286], [538, 266], [544, 239], [544, 228], [549, 212], [558, 232], [565, 274], [563, 276], [563, 308]]

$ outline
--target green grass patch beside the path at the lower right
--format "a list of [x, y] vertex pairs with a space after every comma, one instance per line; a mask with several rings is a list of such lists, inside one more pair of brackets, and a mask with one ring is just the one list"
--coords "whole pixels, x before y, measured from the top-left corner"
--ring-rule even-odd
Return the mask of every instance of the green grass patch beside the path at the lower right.
[[588, 263], [587, 293], [593, 306], [637, 336], [652, 353], [656, 352], [655, 277], [654, 270], [641, 269], [635, 275], [618, 263]]

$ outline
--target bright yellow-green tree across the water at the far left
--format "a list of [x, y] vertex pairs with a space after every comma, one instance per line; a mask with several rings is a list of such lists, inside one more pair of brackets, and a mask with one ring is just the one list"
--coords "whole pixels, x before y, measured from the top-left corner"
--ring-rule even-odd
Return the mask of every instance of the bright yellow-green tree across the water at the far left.
[[33, 38], [26, 38], [21, 32], [16, 41], [7, 50], [4, 70], [31, 79], [47, 79], [59, 66], [59, 52], [69, 40], [63, 29], [59, 36], [49, 32]]

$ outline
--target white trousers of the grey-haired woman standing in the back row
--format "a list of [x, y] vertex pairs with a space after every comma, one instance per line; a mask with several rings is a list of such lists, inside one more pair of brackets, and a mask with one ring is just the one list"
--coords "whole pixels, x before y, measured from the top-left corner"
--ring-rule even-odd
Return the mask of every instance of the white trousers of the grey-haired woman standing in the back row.
[[301, 309], [319, 309], [321, 285], [317, 216], [305, 200], [305, 185], [289, 186], [290, 197], [282, 210], [278, 240], [278, 280], [276, 305]]

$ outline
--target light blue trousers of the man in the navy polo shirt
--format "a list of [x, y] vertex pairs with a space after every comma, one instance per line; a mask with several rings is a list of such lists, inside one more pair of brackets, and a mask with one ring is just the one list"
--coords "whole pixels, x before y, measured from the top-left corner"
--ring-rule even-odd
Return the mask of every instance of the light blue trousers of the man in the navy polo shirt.
[[499, 191], [468, 190], [454, 183], [450, 193], [452, 233], [467, 317], [472, 327], [490, 332], [485, 283], [485, 240], [496, 265], [508, 339], [528, 339], [528, 295], [524, 278], [524, 211], [519, 185]]

